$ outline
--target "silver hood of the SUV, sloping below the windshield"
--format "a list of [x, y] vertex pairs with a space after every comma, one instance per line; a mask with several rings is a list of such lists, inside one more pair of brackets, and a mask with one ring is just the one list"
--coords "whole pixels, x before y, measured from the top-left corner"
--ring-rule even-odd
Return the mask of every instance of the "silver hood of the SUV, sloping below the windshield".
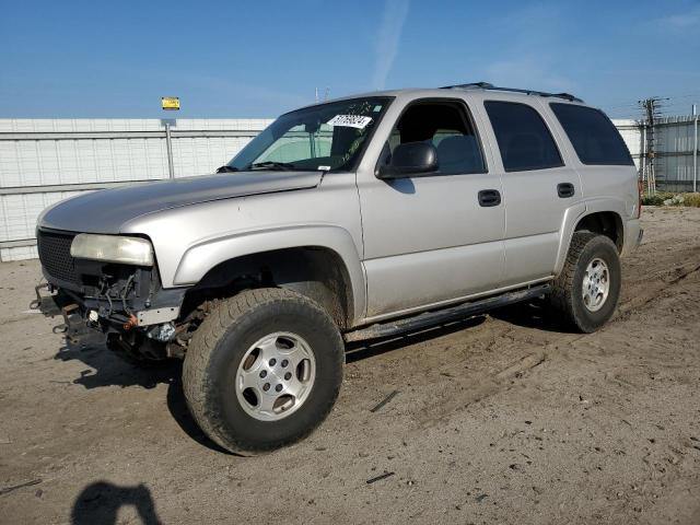
[[39, 228], [86, 233], [119, 233], [147, 213], [211, 200], [314, 188], [323, 172], [240, 172], [136, 184], [80, 195], [48, 208]]

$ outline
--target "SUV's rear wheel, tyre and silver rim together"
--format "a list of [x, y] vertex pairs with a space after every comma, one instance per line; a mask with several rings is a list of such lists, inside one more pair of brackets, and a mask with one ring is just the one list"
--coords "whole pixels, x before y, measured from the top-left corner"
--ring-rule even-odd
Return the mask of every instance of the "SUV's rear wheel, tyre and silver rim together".
[[612, 316], [621, 281], [620, 258], [612, 241], [591, 232], [574, 232], [550, 303], [569, 325], [590, 334]]

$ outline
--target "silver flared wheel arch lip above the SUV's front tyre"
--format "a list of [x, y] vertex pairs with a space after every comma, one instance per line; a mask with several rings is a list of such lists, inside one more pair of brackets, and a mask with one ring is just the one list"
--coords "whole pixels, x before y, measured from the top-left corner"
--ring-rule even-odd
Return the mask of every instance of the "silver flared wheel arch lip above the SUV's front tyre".
[[331, 249], [342, 259], [352, 285], [354, 318], [361, 318], [366, 304], [364, 273], [352, 236], [340, 226], [293, 225], [203, 241], [185, 252], [173, 284], [196, 284], [210, 269], [235, 257], [304, 246]]

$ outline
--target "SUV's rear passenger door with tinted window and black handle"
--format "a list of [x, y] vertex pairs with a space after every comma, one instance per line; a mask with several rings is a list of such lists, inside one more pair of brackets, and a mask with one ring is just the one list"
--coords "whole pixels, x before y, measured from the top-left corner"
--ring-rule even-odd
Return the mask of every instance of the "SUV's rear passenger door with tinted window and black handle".
[[581, 180], [542, 117], [539, 104], [485, 101], [501, 153], [505, 219], [505, 285], [553, 273], [559, 230], [581, 199]]

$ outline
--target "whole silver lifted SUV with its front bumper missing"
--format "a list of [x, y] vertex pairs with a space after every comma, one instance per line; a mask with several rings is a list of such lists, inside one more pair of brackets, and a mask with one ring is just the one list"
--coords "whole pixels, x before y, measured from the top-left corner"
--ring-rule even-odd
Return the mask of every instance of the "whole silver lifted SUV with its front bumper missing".
[[282, 115], [214, 175], [47, 209], [38, 303], [132, 362], [184, 359], [201, 429], [270, 451], [328, 415], [346, 341], [535, 298], [598, 329], [641, 238], [637, 178], [610, 120], [565, 93], [352, 96]]

